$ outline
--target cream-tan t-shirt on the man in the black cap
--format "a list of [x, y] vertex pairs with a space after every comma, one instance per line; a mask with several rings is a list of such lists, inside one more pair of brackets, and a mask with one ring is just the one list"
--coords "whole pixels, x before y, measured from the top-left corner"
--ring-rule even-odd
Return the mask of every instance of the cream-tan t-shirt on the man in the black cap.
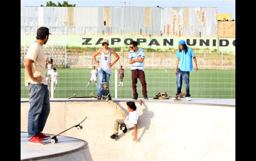
[[[28, 49], [28, 53], [25, 56], [25, 59], [31, 59], [34, 61], [34, 63], [32, 63], [33, 76], [36, 77], [38, 75], [41, 75], [43, 77], [41, 83], [47, 85], [45, 79], [45, 52], [43, 46], [38, 42], [33, 42]], [[28, 83], [38, 84], [37, 82], [31, 80], [27, 71], [25, 70], [25, 86], [28, 86]]]

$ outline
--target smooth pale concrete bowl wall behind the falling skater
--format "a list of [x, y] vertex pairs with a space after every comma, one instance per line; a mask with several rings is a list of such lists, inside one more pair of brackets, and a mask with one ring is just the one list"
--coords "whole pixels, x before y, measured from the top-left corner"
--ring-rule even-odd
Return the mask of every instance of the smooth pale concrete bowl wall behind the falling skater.
[[[125, 102], [118, 104], [127, 109]], [[27, 129], [28, 107], [21, 103], [21, 131]], [[144, 102], [139, 141], [133, 142], [134, 128], [109, 138], [120, 116], [106, 102], [51, 102], [43, 132], [55, 134], [86, 116], [82, 130], [66, 135], [88, 141], [93, 160], [235, 160], [234, 107]]]

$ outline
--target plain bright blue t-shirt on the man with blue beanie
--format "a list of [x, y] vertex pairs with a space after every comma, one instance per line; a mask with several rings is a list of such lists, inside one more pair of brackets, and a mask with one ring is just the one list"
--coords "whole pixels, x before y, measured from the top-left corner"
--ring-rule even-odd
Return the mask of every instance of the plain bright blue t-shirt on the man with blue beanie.
[[186, 54], [185, 50], [182, 50], [181, 52], [178, 50], [176, 52], [176, 57], [180, 58], [178, 68], [180, 68], [181, 71], [193, 71], [192, 57], [194, 56], [192, 49], [189, 47]]

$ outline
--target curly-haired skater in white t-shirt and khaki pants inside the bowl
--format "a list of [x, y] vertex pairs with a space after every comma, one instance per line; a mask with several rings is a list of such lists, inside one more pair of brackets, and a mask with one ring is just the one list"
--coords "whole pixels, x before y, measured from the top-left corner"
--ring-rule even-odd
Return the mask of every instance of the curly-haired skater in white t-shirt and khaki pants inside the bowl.
[[106, 102], [112, 104], [113, 107], [120, 113], [122, 116], [121, 119], [116, 119], [114, 121], [114, 132], [113, 135], [110, 136], [111, 139], [116, 139], [118, 137], [118, 127], [120, 125], [120, 129], [125, 133], [127, 128], [134, 127], [134, 137], [133, 141], [137, 141], [137, 121], [139, 118], [138, 111], [142, 105], [141, 99], [138, 99], [139, 104], [135, 105], [134, 102], [126, 102], [127, 110], [129, 111], [129, 115], [114, 101], [112, 101], [110, 94], [107, 95]]

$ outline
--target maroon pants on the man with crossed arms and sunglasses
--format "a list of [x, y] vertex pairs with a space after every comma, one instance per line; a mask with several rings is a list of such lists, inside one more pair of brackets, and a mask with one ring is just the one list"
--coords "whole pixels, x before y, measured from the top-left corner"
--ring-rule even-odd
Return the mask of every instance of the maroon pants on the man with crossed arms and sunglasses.
[[145, 96], [147, 92], [147, 83], [145, 80], [145, 74], [143, 70], [134, 69], [132, 70], [132, 90], [133, 90], [133, 96], [138, 95], [137, 93], [137, 78], [140, 79], [140, 83], [142, 85], [142, 94]]

